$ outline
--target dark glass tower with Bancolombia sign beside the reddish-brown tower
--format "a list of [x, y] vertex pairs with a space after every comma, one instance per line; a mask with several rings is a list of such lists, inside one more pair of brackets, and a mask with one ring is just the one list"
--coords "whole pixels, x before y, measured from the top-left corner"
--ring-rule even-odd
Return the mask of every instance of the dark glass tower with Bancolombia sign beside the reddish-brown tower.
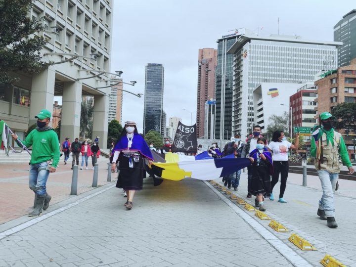
[[[228, 132], [231, 134], [232, 121], [232, 80], [233, 80], [233, 55], [228, 54], [227, 50], [231, 45], [235, 44], [237, 39], [251, 31], [241, 28], [223, 35], [218, 43], [218, 63], [216, 68], [216, 117], [215, 117], [215, 138], [220, 138], [220, 132]], [[223, 92], [223, 94], [222, 94]], [[222, 105], [223, 101], [223, 105]], [[223, 114], [221, 109], [223, 106]], [[221, 123], [221, 116], [224, 118]]]

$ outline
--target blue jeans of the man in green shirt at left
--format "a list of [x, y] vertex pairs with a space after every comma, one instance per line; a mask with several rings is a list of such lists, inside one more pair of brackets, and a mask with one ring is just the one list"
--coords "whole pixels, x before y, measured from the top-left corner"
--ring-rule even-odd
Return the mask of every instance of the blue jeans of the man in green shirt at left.
[[47, 162], [30, 165], [29, 184], [30, 189], [39, 196], [45, 196], [46, 183], [49, 175], [47, 170]]

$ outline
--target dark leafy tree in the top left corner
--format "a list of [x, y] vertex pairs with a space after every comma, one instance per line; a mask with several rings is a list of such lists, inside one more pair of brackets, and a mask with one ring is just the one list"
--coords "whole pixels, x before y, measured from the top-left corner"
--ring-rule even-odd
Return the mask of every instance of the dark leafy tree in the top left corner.
[[40, 72], [47, 64], [40, 50], [48, 42], [32, 35], [43, 30], [43, 19], [29, 17], [33, 0], [0, 0], [0, 83], [17, 78], [9, 72]]

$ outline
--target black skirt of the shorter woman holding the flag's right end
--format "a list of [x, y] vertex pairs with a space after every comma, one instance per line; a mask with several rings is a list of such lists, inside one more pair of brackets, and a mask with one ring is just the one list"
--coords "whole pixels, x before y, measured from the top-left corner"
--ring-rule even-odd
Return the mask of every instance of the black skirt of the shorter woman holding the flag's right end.
[[251, 166], [251, 191], [255, 196], [271, 194], [271, 182], [268, 166]]

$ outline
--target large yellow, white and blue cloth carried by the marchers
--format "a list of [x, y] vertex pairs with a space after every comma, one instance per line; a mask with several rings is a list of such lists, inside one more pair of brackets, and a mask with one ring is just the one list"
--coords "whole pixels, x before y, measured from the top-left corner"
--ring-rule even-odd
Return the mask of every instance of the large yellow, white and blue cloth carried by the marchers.
[[185, 156], [170, 152], [165, 155], [154, 153], [153, 157], [154, 162], [151, 165], [153, 173], [158, 177], [175, 181], [184, 178], [217, 179], [251, 164], [248, 158], [234, 158], [233, 154], [213, 159], [206, 151], [197, 156]]

